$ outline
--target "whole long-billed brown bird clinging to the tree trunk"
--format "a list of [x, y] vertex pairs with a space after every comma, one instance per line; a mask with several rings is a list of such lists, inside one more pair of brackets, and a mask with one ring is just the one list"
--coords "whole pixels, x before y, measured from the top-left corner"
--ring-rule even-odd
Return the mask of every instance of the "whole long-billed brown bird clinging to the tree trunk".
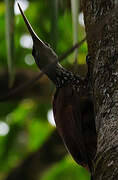
[[33, 39], [32, 55], [36, 64], [44, 71], [51, 63], [44, 73], [56, 85], [53, 113], [57, 130], [75, 161], [91, 171], [96, 153], [96, 130], [89, 70], [87, 77], [81, 78], [63, 68], [57, 62], [56, 53], [40, 40], [18, 6]]

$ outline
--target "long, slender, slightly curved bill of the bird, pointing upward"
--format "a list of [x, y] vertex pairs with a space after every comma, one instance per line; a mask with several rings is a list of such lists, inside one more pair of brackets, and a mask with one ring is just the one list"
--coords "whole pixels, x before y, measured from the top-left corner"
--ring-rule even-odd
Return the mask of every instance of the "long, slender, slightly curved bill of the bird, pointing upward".
[[[37, 34], [34, 32], [31, 24], [29, 23], [28, 19], [26, 18], [25, 14], [23, 13], [23, 11], [22, 11], [19, 3], [18, 3], [18, 7], [19, 7], [19, 10], [20, 10], [20, 12], [21, 12], [21, 15], [22, 15], [22, 17], [23, 17], [23, 19], [24, 19], [24, 22], [25, 22], [25, 24], [26, 24], [26, 26], [27, 26], [27, 28], [28, 28], [28, 31], [29, 31], [30, 35], [32, 36], [33, 42], [38, 41], [38, 43], [39, 43], [40, 45], [43, 45], [43, 46], [44, 46], [45, 43], [44, 43], [44, 42], [37, 36]], [[46, 46], [46, 45], [45, 45], [45, 46]]]

